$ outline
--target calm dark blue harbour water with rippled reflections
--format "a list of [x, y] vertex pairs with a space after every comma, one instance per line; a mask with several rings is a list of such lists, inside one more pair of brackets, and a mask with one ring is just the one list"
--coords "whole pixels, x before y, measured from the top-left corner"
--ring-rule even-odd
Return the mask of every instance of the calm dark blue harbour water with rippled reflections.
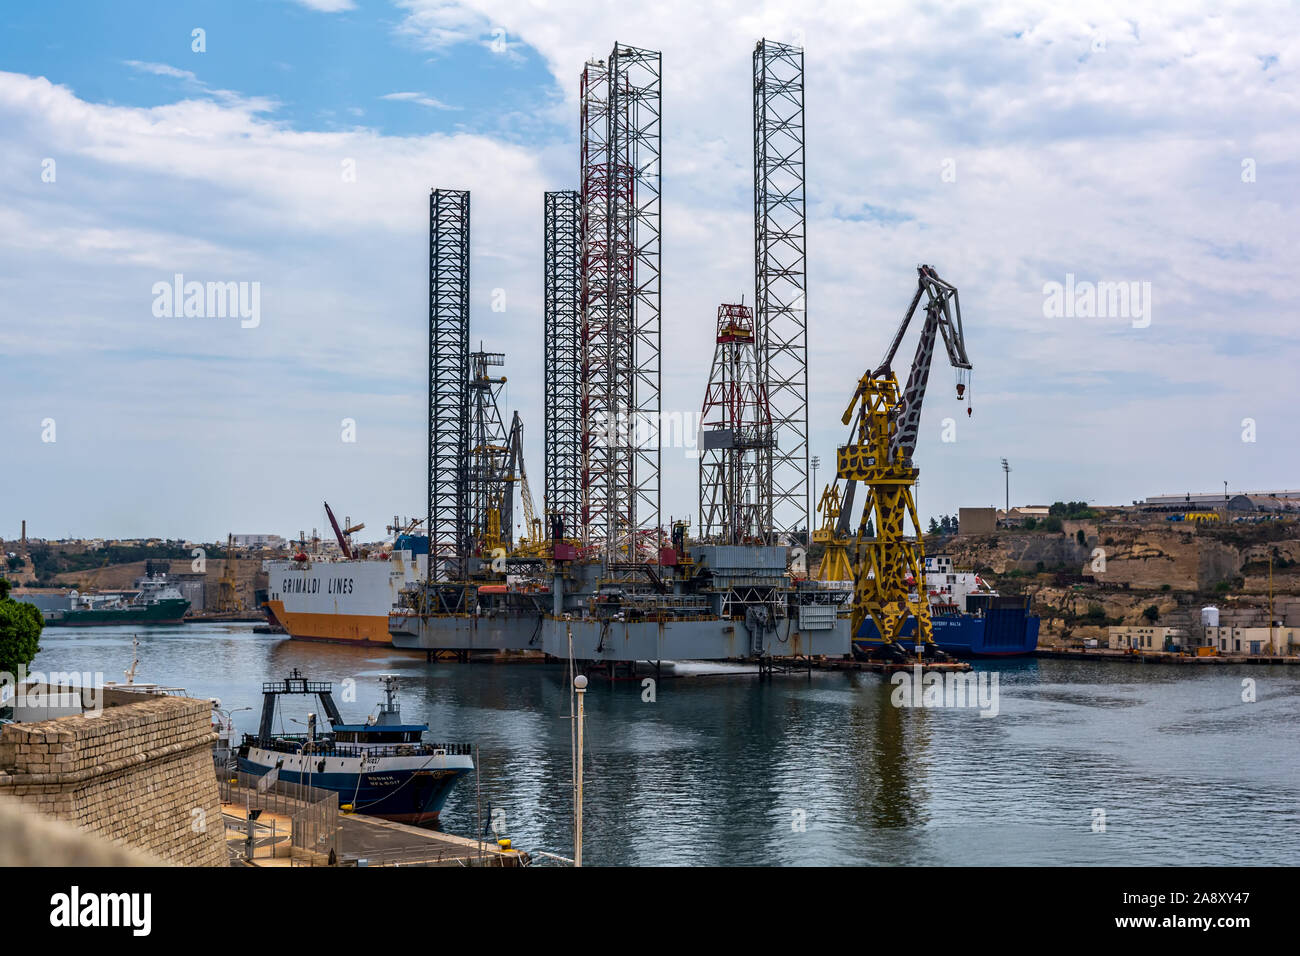
[[[524, 849], [568, 856], [569, 695], [562, 666], [428, 665], [300, 644], [250, 624], [49, 628], [36, 670], [220, 697], [256, 730], [261, 682], [299, 667], [356, 680], [344, 718], [402, 676], [407, 719], [477, 743], [482, 813]], [[996, 667], [1000, 710], [906, 710], [876, 675], [755, 676], [714, 665], [586, 695], [589, 864], [1296, 864], [1300, 669], [1023, 661]], [[1242, 701], [1253, 678], [1257, 701]], [[335, 689], [335, 697], [338, 689]], [[302, 732], [307, 698], [283, 728]], [[312, 708], [315, 709], [315, 706]], [[280, 728], [277, 721], [277, 730]], [[1106, 813], [1093, 832], [1092, 809]], [[805, 829], [797, 830], [800, 816]], [[473, 778], [442, 827], [472, 835]]]

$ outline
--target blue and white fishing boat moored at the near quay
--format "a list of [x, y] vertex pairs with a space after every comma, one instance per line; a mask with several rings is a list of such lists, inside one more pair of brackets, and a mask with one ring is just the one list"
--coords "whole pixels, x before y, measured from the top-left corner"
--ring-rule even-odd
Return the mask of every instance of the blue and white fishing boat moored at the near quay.
[[[246, 734], [239, 769], [274, 780], [304, 783], [338, 793], [339, 806], [402, 823], [438, 818], [451, 788], [474, 769], [471, 744], [434, 744], [424, 739], [429, 726], [402, 723], [396, 678], [385, 675], [377, 715], [365, 723], [344, 723], [329, 682], [307, 680], [298, 669], [283, 680], [261, 685], [261, 726]], [[307, 734], [273, 734], [276, 701], [283, 695], [320, 700], [330, 730], [316, 732], [316, 715]]]

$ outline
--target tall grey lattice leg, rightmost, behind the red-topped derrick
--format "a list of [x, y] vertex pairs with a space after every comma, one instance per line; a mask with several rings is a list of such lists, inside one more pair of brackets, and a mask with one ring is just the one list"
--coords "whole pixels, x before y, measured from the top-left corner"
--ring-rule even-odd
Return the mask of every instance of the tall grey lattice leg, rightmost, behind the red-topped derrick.
[[803, 190], [803, 51], [754, 47], [754, 302], [758, 360], [772, 414], [771, 488], [775, 537], [793, 538], [809, 520], [809, 378]]

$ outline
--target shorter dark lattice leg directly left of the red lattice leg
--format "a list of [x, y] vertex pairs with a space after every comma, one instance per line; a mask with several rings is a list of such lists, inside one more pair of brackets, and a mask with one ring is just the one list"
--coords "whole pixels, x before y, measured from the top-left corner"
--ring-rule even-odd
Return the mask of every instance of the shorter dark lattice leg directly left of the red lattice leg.
[[[582, 525], [582, 245], [576, 191], [545, 195], [542, 298], [545, 381], [543, 512], [564, 535]], [[532, 529], [529, 529], [532, 535]]]

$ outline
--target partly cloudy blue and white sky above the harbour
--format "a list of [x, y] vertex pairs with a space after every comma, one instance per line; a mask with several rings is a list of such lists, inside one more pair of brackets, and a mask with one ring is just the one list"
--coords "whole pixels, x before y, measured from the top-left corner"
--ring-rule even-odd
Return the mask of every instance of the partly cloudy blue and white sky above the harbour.
[[[432, 187], [471, 190], [541, 506], [542, 194], [615, 42], [663, 53], [664, 411], [698, 412], [754, 295], [762, 36], [806, 56], [819, 484], [928, 263], [974, 372], [967, 416], [936, 356], [923, 516], [1001, 505], [1001, 458], [1013, 505], [1300, 486], [1294, 5], [52, 0], [0, 12], [0, 537], [422, 514]], [[256, 324], [157, 315], [177, 273], [256, 282]], [[1053, 306], [1098, 282], [1138, 295]], [[666, 519], [696, 481], [666, 449]]]

